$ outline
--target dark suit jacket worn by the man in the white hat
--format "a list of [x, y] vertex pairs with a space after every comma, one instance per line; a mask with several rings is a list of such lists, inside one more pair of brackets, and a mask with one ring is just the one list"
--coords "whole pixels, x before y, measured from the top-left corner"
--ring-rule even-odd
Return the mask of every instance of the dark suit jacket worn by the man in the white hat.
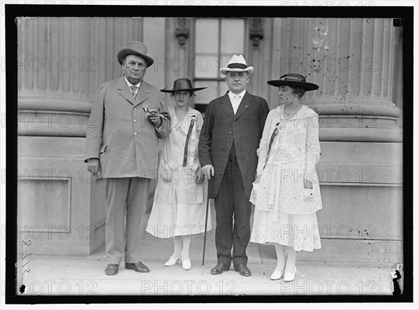
[[247, 198], [250, 198], [258, 165], [256, 149], [259, 147], [268, 113], [269, 108], [265, 99], [253, 96], [247, 91], [236, 114], [233, 112], [228, 94], [210, 102], [205, 112], [199, 140], [201, 166], [214, 166], [210, 198], [214, 198], [219, 191], [233, 140], [242, 172], [244, 191]]

